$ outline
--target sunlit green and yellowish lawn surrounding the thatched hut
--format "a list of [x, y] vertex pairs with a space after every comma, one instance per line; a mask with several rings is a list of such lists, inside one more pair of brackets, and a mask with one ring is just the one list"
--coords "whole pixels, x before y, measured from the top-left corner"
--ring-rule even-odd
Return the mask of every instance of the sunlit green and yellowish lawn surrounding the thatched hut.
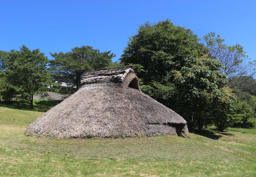
[[219, 140], [158, 136], [56, 139], [24, 136], [43, 112], [0, 107], [0, 176], [256, 176], [256, 135]]

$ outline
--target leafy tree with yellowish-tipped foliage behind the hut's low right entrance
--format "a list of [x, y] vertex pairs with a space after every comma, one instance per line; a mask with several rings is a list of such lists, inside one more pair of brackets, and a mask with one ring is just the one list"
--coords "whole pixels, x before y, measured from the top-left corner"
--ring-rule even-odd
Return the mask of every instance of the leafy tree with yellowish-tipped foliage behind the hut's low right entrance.
[[209, 57], [185, 60], [180, 70], [173, 70], [173, 108], [185, 118], [193, 117], [200, 132], [206, 122], [227, 120], [234, 96], [226, 87], [226, 77], [218, 70], [218, 61]]

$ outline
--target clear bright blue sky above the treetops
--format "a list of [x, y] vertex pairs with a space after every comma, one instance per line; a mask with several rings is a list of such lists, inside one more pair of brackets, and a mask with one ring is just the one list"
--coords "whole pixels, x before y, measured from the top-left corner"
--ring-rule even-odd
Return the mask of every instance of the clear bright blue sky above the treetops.
[[67, 52], [90, 45], [117, 57], [139, 25], [169, 18], [198, 37], [213, 31], [256, 59], [256, 0], [0, 0], [0, 50]]

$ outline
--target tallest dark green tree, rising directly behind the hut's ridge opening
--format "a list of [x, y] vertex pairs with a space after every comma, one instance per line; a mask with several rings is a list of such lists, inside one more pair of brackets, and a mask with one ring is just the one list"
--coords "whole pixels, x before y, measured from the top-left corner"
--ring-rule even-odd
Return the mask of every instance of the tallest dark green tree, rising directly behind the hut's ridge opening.
[[153, 80], [162, 81], [174, 68], [180, 70], [184, 58], [204, 55], [206, 48], [198, 41], [191, 30], [175, 26], [168, 19], [157, 24], [147, 22], [129, 38], [120, 61], [143, 66], [137, 73], [147, 85]]

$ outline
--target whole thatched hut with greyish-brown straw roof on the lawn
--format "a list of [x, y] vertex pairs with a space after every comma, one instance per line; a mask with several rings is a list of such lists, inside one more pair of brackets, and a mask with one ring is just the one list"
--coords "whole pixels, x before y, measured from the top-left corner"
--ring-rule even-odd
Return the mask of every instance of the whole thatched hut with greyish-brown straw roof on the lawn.
[[26, 130], [26, 135], [85, 138], [180, 135], [186, 121], [139, 89], [131, 67], [88, 72], [82, 87]]

